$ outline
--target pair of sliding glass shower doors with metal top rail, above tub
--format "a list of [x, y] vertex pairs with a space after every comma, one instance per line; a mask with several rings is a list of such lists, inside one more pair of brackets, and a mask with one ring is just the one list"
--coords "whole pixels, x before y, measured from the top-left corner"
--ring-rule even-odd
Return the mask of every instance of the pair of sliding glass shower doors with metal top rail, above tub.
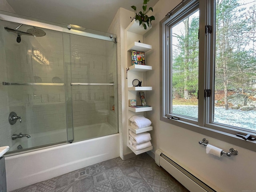
[[118, 132], [113, 34], [0, 11], [0, 60], [0, 146], [8, 153]]

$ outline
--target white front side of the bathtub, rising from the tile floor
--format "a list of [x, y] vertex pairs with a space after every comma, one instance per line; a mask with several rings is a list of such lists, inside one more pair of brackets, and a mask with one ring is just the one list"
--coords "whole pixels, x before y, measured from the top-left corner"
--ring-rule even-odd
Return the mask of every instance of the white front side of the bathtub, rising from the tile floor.
[[7, 156], [7, 191], [119, 156], [119, 134]]

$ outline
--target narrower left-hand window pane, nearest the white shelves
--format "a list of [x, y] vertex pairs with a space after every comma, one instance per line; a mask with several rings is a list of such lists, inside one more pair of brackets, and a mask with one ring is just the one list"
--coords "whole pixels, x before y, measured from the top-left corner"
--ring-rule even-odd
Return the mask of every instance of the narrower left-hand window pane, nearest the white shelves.
[[198, 118], [199, 11], [170, 25], [171, 113]]

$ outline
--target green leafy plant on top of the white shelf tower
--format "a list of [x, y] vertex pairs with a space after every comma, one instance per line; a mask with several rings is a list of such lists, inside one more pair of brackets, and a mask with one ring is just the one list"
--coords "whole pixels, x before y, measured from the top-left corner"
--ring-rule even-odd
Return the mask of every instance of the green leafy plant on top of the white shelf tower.
[[[140, 11], [138, 14], [137, 14], [136, 6], [134, 6], [134, 5], [131, 6], [131, 8], [134, 10], [134, 14], [135, 14], [134, 18], [135, 18], [135, 20], [138, 20], [140, 25], [143, 24], [144, 29], [147, 29], [147, 25], [148, 25], [148, 27], [151, 27], [151, 21], [155, 20], [154, 16], [150, 16], [149, 17], [147, 15], [148, 12], [150, 12], [150, 10], [153, 12], [153, 8], [152, 7], [148, 8], [148, 10], [147, 10], [147, 4], [148, 4], [149, 1], [150, 0], [143, 0], [143, 6], [142, 6], [143, 12]], [[132, 19], [134, 19], [134, 18], [132, 18]]]

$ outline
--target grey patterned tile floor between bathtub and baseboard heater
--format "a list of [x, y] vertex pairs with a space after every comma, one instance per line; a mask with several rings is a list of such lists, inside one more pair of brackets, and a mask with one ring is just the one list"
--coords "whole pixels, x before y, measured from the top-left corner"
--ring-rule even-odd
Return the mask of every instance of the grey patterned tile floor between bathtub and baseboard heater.
[[189, 192], [148, 154], [94, 164], [12, 192]]

